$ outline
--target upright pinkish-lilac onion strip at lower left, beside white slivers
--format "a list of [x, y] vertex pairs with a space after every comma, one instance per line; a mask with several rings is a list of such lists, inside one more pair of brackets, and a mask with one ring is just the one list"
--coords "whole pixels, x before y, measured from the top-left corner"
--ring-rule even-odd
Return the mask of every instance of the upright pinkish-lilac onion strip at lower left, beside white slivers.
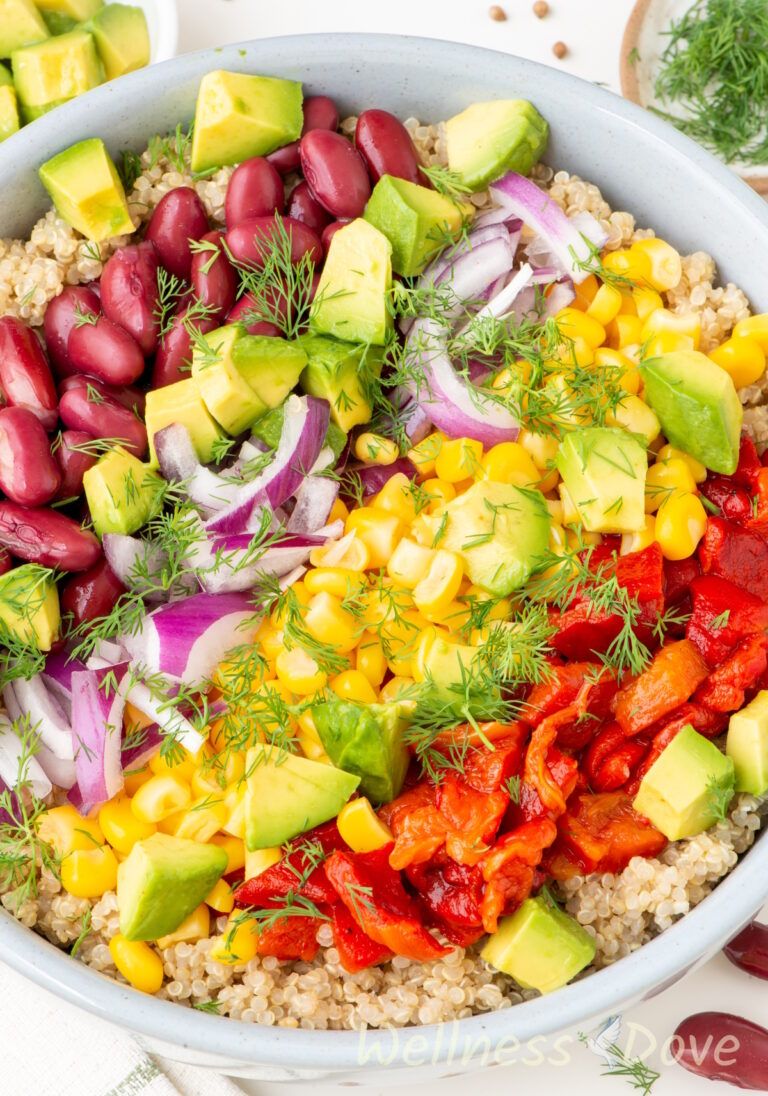
[[[78, 791], [70, 796], [83, 814], [123, 788], [123, 711], [126, 664], [72, 674], [72, 735]], [[110, 684], [104, 681], [110, 677]], [[113, 676], [115, 684], [113, 683]]]

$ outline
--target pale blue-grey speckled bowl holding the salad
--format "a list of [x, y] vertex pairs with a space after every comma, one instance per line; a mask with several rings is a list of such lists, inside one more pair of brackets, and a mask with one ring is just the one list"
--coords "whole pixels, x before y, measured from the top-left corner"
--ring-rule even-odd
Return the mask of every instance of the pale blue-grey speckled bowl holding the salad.
[[[284, 76], [333, 95], [343, 112], [381, 106], [437, 121], [471, 102], [529, 98], [549, 119], [547, 160], [599, 184], [681, 251], [711, 252], [723, 281], [768, 311], [768, 212], [709, 153], [665, 123], [593, 84], [505, 54], [387, 35], [251, 42], [179, 57], [105, 84], [0, 146], [0, 236], [25, 236], [46, 208], [39, 163], [102, 136], [113, 151], [187, 122], [213, 68]], [[609, 1014], [661, 993], [713, 955], [768, 898], [768, 840], [666, 933], [615, 966], [550, 996], [455, 1024], [401, 1031], [260, 1028], [182, 1008], [118, 985], [0, 914], [0, 958], [67, 1001], [137, 1035], [152, 1050], [243, 1076], [392, 1084], [520, 1060], [575, 1038]], [[523, 1073], [523, 1075], [527, 1075]]]

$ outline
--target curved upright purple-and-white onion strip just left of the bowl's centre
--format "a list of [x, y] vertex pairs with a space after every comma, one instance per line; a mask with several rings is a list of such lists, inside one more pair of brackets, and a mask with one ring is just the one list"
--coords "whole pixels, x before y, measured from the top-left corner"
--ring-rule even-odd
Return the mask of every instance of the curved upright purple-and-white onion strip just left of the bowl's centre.
[[274, 510], [296, 493], [323, 448], [330, 410], [326, 400], [313, 396], [288, 397], [272, 461], [250, 483], [241, 484], [232, 502], [207, 522], [209, 533], [255, 532], [265, 505]]

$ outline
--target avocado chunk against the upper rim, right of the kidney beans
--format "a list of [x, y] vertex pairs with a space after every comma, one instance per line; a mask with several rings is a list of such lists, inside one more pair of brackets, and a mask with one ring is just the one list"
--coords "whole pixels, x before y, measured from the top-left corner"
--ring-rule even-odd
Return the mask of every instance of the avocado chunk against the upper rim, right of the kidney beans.
[[526, 99], [473, 103], [446, 122], [448, 168], [481, 191], [505, 171], [529, 174], [548, 137], [547, 122]]

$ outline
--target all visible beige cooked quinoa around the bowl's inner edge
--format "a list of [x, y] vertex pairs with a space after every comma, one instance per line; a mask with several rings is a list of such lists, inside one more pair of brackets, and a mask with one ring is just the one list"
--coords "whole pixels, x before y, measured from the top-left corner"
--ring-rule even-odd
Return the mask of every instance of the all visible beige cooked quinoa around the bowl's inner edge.
[[[341, 124], [352, 136], [356, 118]], [[444, 126], [422, 125], [408, 118], [411, 134], [425, 164], [446, 163]], [[195, 180], [191, 170], [179, 171], [164, 156], [141, 158], [142, 172], [128, 195], [134, 224], [146, 224], [168, 191], [193, 186], [209, 217], [223, 225], [223, 203], [232, 168]], [[616, 250], [651, 237], [638, 228], [630, 213], [614, 212], [594, 184], [540, 163], [532, 178], [566, 214], [593, 214], [608, 233], [606, 248]], [[286, 180], [290, 189], [295, 179]], [[478, 209], [489, 205], [486, 192], [471, 196]], [[32, 229], [28, 241], [0, 240], [0, 315], [18, 316], [39, 326], [48, 302], [65, 285], [98, 278], [106, 259], [128, 237], [96, 244], [83, 240], [50, 210]], [[675, 312], [696, 312], [701, 320], [701, 349], [722, 342], [733, 327], [749, 315], [746, 296], [733, 283], [717, 285], [714, 260], [703, 251], [683, 258], [680, 283], [667, 294]], [[758, 449], [768, 448], [768, 374], [740, 392], [745, 407], [744, 426]], [[560, 884], [565, 909], [594, 937], [591, 970], [607, 967], [637, 950], [702, 901], [753, 844], [765, 815], [768, 796], [737, 796], [729, 817], [706, 833], [670, 843], [658, 858], [634, 857], [617, 875], [574, 877]], [[65, 892], [58, 879], [43, 869], [37, 897], [14, 910], [10, 895], [0, 902], [27, 927], [54, 944], [70, 946], [82, 934], [91, 914], [90, 932], [78, 958], [95, 970], [124, 981], [108, 949], [118, 932], [117, 898], [111, 891], [90, 901]], [[211, 922], [211, 934], [222, 933], [227, 916]], [[167, 981], [158, 994], [183, 1005], [218, 1002], [221, 1015], [234, 1019], [303, 1029], [354, 1029], [434, 1024], [508, 1008], [537, 996], [488, 966], [480, 946], [455, 948], [436, 962], [414, 962], [396, 956], [380, 967], [347, 973], [333, 947], [331, 927], [320, 924], [320, 951], [311, 962], [256, 957], [248, 963], [227, 966], [209, 958], [213, 936], [181, 943], [159, 951]], [[584, 972], [585, 974], [588, 971]]]

